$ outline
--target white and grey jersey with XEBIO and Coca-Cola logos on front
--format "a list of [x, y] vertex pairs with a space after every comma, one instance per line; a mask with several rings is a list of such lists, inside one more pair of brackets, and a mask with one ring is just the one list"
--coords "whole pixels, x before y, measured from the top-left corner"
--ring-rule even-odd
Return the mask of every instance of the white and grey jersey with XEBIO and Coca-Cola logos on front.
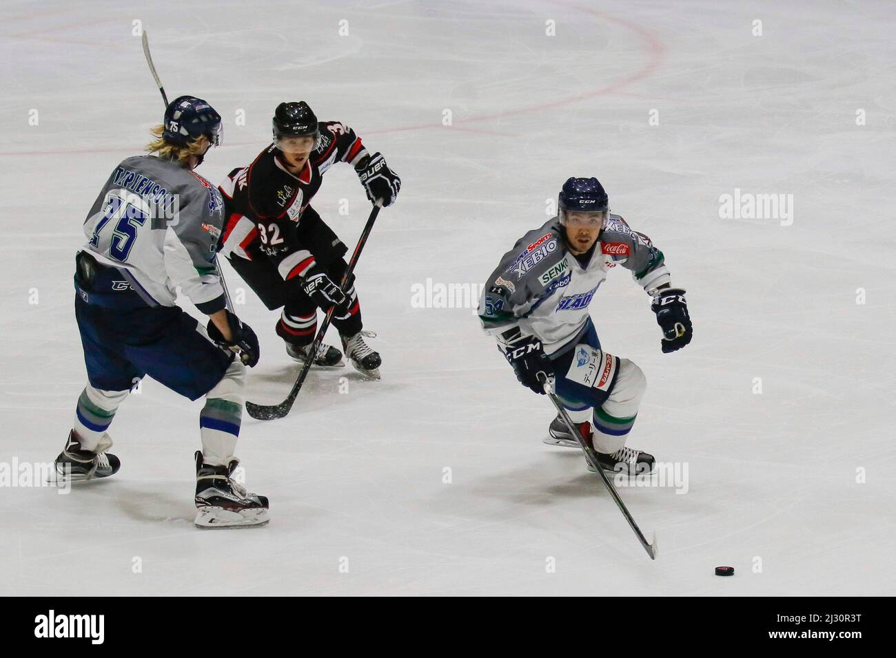
[[585, 333], [588, 306], [607, 278], [621, 265], [649, 295], [670, 283], [663, 253], [650, 238], [633, 231], [625, 219], [607, 215], [590, 261], [582, 263], [566, 249], [559, 218], [523, 235], [504, 254], [486, 282], [479, 319], [489, 334], [514, 327], [541, 339], [545, 354], [575, 345]]

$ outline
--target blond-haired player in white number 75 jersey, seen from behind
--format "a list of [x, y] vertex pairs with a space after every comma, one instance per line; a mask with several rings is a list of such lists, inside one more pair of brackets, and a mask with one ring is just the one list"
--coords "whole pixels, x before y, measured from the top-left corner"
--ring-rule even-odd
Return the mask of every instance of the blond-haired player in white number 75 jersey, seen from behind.
[[[258, 338], [226, 308], [215, 262], [224, 204], [218, 189], [194, 173], [220, 141], [220, 115], [201, 98], [182, 96], [152, 132], [151, 155], [123, 160], [84, 222], [74, 311], [88, 384], [56, 470], [72, 480], [117, 472], [107, 430], [118, 406], [149, 375], [191, 400], [205, 397], [195, 524], [263, 525], [268, 499], [232, 478], [244, 363], [258, 363]], [[177, 306], [177, 286], [209, 316], [207, 328]]]

